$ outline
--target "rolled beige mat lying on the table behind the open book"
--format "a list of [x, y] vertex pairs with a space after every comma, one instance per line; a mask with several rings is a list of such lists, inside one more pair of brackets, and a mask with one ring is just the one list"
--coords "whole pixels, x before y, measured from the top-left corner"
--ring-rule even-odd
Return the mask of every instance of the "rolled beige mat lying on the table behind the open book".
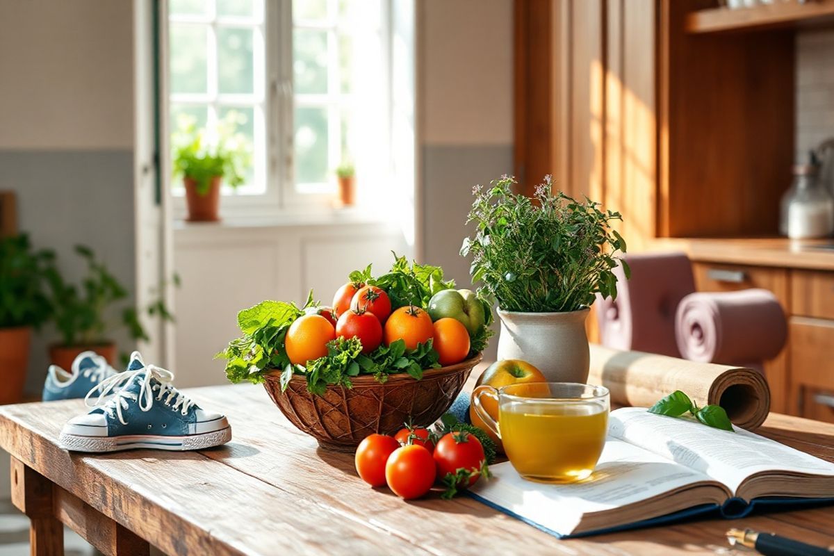
[[641, 352], [590, 345], [589, 384], [608, 388], [611, 403], [648, 408], [676, 390], [699, 407], [720, 405], [741, 428], [757, 428], [771, 410], [771, 391], [751, 368], [696, 363]]

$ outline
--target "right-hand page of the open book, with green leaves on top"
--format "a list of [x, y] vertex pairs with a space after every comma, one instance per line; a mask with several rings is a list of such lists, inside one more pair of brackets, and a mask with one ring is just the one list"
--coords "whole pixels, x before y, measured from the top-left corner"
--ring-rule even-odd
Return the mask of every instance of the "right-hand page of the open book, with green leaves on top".
[[834, 476], [834, 463], [741, 428], [707, 427], [687, 418], [648, 413], [646, 408], [612, 411], [608, 433], [686, 467], [706, 473], [733, 493], [745, 478], [764, 471]]

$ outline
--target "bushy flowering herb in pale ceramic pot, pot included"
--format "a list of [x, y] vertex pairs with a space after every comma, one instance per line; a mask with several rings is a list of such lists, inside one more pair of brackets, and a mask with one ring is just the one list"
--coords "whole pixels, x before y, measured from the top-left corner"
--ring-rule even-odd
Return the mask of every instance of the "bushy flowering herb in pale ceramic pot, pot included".
[[[534, 198], [513, 192], [506, 176], [473, 190], [460, 254], [472, 259], [473, 283], [498, 301], [499, 359], [524, 359], [555, 382], [585, 383], [585, 318], [595, 293], [616, 296], [611, 272], [625, 241], [610, 228], [620, 213], [554, 193], [550, 176]], [[629, 269], [622, 261], [626, 276]]]

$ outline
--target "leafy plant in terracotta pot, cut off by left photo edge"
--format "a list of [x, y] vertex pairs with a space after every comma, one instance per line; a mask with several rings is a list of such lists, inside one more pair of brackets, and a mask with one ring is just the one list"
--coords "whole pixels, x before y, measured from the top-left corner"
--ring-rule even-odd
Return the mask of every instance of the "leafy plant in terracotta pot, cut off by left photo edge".
[[44, 278], [54, 258], [34, 251], [25, 234], [0, 238], [0, 403], [23, 398], [32, 329], [51, 314]]

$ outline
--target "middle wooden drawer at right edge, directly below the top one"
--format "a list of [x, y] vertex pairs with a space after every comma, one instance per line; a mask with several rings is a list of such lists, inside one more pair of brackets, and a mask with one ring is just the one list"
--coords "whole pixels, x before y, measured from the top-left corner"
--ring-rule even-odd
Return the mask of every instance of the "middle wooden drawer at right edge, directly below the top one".
[[793, 317], [789, 331], [791, 383], [834, 391], [834, 321]]

